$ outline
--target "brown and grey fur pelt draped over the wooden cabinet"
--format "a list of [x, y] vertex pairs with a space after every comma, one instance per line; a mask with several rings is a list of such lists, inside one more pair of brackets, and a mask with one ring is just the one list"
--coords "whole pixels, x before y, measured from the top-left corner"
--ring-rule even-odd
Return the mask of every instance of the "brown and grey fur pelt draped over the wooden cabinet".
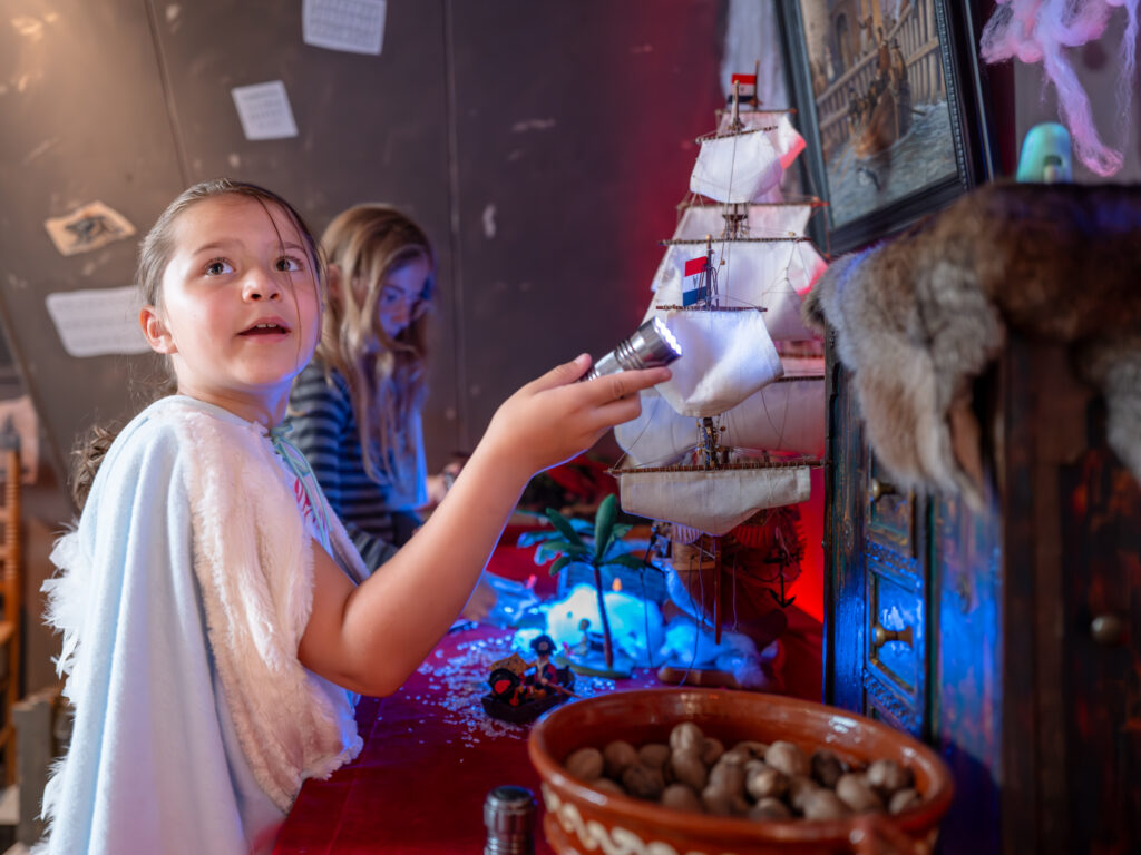
[[803, 316], [835, 331], [901, 487], [979, 500], [971, 381], [1015, 329], [1075, 345], [1106, 397], [1109, 445], [1141, 480], [1141, 187], [988, 185], [837, 259]]

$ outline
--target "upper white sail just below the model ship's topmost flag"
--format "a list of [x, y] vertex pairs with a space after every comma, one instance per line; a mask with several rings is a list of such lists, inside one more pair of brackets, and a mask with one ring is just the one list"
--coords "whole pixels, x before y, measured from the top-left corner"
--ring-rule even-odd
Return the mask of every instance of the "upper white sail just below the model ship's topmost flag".
[[709, 137], [689, 177], [689, 189], [718, 202], [752, 202], [780, 182], [780, 156], [762, 131]]

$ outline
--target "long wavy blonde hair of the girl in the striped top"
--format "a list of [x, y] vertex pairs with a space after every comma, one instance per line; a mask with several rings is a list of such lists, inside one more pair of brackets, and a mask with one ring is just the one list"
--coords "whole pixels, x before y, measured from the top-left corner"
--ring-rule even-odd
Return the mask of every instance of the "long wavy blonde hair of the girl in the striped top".
[[[337, 369], [349, 388], [365, 472], [391, 477], [390, 453], [412, 446], [408, 424], [427, 392], [428, 310], [436, 258], [423, 229], [389, 205], [366, 203], [338, 214], [321, 238], [325, 260], [340, 269], [330, 288], [316, 358]], [[386, 279], [415, 260], [428, 264], [420, 312], [395, 337], [380, 324], [378, 301]]]

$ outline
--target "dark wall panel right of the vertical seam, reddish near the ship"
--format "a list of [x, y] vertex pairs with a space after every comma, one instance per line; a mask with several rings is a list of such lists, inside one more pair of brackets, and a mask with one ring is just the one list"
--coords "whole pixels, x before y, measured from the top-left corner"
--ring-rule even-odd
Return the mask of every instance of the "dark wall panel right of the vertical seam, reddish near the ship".
[[641, 318], [721, 103], [725, 3], [448, 8], [461, 393], [478, 437], [504, 394]]

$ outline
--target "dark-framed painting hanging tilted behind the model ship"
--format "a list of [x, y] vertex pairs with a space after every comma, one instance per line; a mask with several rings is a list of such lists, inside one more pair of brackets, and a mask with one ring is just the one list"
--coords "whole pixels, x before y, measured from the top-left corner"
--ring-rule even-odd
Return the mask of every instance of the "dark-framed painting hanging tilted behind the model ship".
[[787, 79], [844, 252], [946, 205], [990, 174], [974, 19], [963, 0], [780, 0]]

